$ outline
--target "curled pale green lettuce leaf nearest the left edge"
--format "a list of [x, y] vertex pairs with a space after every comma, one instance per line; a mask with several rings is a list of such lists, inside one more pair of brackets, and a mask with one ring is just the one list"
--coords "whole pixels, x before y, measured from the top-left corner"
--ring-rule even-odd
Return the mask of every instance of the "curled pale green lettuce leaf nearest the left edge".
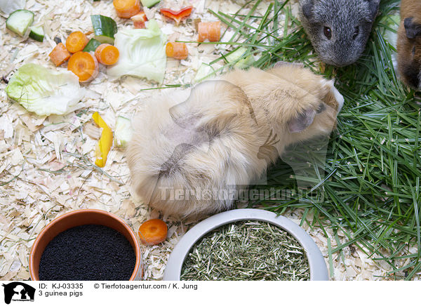
[[81, 88], [73, 72], [29, 63], [13, 74], [6, 93], [29, 112], [49, 116], [72, 112], [83, 98], [85, 89]]

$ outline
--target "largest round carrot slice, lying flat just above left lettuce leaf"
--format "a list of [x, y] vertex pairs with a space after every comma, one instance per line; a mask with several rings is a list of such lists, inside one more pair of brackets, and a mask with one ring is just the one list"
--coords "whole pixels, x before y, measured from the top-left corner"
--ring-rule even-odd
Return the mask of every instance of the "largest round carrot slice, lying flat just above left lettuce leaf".
[[67, 70], [79, 76], [79, 82], [87, 82], [98, 75], [98, 61], [91, 53], [79, 51], [69, 59]]

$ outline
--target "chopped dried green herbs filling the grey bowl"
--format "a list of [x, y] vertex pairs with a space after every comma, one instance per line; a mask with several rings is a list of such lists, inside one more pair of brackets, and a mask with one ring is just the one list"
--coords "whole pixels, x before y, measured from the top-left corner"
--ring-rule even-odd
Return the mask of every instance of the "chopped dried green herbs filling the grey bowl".
[[288, 232], [259, 221], [218, 227], [190, 250], [181, 272], [183, 281], [309, 280], [302, 246]]

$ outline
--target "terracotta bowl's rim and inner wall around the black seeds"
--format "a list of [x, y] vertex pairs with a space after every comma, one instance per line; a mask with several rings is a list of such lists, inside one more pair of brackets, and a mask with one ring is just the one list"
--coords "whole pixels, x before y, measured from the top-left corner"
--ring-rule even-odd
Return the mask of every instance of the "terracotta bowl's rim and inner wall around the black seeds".
[[39, 261], [41, 255], [44, 253], [44, 249], [48, 243], [53, 240], [60, 232], [64, 232], [69, 228], [76, 227], [79, 225], [105, 225], [123, 234], [124, 237], [130, 242], [136, 255], [136, 264], [133, 274], [131, 275], [130, 281], [138, 281], [143, 278], [143, 267], [142, 267], [142, 255], [140, 253], [140, 244], [135, 232], [127, 225], [126, 222], [121, 220], [119, 217], [107, 211], [101, 211], [99, 209], [80, 209], [77, 211], [71, 211], [60, 215], [53, 221], [48, 223], [46, 227], [36, 237], [34, 244], [29, 254], [29, 273], [33, 281], [39, 281]]

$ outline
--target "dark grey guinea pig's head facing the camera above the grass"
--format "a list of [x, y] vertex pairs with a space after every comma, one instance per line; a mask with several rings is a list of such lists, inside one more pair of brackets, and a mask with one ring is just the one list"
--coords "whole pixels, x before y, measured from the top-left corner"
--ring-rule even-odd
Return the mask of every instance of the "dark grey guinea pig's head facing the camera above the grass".
[[343, 67], [359, 59], [380, 0], [299, 0], [300, 20], [326, 64]]

